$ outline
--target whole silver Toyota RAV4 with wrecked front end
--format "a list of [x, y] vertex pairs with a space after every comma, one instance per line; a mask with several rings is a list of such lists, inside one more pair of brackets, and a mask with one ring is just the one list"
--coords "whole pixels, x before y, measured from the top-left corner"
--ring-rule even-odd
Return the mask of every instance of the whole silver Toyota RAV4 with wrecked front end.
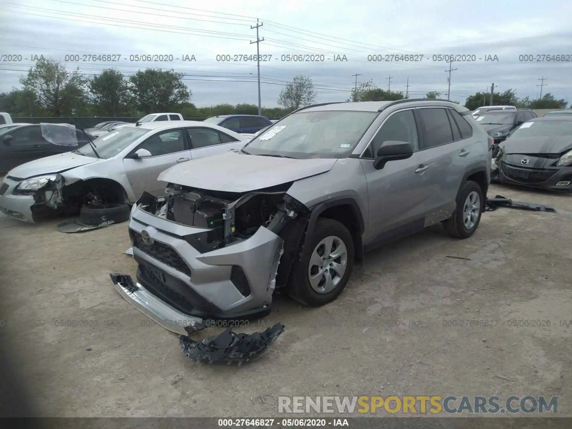
[[243, 149], [162, 172], [165, 195], [144, 193], [131, 212], [137, 283], [114, 283], [185, 335], [265, 316], [279, 288], [329, 303], [368, 249], [439, 222], [470, 237], [491, 144], [466, 108], [443, 100], [296, 110]]

